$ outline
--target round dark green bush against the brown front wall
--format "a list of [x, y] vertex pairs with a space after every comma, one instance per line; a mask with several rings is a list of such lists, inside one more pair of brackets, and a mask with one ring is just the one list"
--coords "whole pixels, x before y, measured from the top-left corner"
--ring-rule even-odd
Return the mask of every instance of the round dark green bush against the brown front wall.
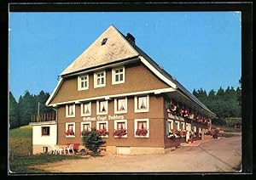
[[83, 135], [83, 145], [86, 149], [92, 151], [95, 155], [97, 154], [99, 147], [106, 143], [102, 140], [102, 137], [96, 132], [96, 128], [92, 128], [90, 132], [84, 131], [82, 132]]

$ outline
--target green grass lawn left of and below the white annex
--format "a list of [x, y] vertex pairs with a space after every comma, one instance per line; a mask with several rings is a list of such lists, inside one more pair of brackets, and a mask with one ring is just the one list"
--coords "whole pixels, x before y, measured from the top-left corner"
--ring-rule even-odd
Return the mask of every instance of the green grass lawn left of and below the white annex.
[[77, 155], [32, 155], [32, 126], [15, 128], [9, 131], [10, 173], [43, 172], [28, 166], [79, 158], [81, 157]]

